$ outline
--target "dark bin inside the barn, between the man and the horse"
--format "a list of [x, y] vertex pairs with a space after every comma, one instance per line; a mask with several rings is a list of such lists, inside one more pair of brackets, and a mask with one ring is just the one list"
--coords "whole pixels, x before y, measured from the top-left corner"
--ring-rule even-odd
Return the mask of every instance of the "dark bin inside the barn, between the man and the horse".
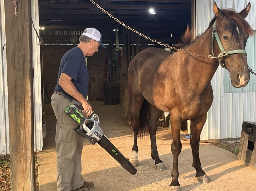
[[103, 84], [103, 99], [106, 105], [119, 103], [119, 83], [110, 82]]

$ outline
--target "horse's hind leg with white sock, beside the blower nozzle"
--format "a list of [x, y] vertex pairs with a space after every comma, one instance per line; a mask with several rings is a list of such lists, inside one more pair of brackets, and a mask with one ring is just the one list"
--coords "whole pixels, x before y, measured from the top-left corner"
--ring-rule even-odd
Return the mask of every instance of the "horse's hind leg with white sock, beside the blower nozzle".
[[130, 162], [132, 163], [133, 166], [139, 166], [139, 159], [138, 159], [139, 149], [137, 144], [138, 132], [140, 127], [139, 116], [140, 116], [140, 108], [145, 98], [141, 94], [134, 95], [133, 97], [130, 97], [130, 98], [131, 98], [131, 114], [133, 117], [132, 129], [134, 133], [132, 157]]

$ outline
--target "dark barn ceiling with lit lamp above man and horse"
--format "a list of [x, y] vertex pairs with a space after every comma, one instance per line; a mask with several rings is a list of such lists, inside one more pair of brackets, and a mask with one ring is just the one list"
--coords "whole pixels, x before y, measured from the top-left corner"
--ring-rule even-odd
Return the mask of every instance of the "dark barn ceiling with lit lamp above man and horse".
[[[92, 0], [93, 1], [93, 0]], [[83, 30], [87, 27], [113, 31], [124, 26], [91, 0], [39, 0], [39, 25], [45, 29]], [[191, 0], [94, 0], [109, 14], [142, 34], [180, 37], [191, 25]], [[156, 14], [150, 14], [154, 8]]]

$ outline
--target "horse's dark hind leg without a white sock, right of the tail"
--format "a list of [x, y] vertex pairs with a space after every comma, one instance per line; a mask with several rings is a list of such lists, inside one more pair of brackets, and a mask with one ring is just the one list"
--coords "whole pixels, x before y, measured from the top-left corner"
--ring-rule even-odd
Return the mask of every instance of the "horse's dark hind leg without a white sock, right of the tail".
[[157, 146], [156, 146], [156, 130], [157, 130], [157, 121], [161, 116], [162, 111], [158, 108], [151, 106], [151, 117], [149, 120], [149, 135], [151, 142], [151, 157], [155, 160], [155, 168], [157, 170], [165, 170], [165, 165], [163, 161], [160, 160], [158, 156]]

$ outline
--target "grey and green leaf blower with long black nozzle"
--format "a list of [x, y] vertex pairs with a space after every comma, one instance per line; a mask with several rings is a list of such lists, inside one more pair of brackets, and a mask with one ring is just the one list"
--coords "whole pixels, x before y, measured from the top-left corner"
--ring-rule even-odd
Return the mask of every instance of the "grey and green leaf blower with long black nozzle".
[[65, 109], [72, 119], [78, 123], [78, 127], [74, 130], [78, 132], [82, 137], [89, 139], [91, 144], [96, 142], [104, 148], [121, 166], [132, 175], [137, 173], [137, 169], [130, 163], [128, 158], [124, 155], [109, 141], [109, 139], [103, 134], [100, 127], [99, 116], [93, 112], [88, 118], [86, 118], [81, 110], [82, 105], [73, 104]]

